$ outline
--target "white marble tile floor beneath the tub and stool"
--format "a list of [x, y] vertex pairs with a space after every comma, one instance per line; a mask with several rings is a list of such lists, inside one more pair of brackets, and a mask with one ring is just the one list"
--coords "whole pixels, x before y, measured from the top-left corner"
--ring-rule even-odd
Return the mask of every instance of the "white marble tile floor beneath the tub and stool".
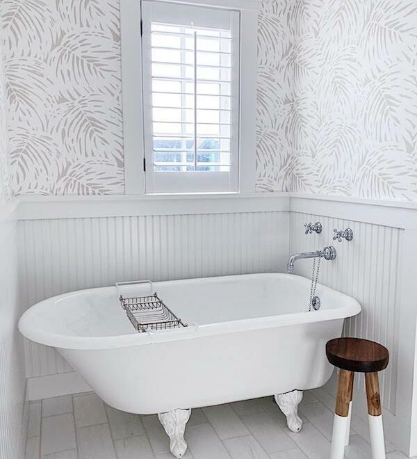
[[[329, 402], [330, 403], [330, 402]], [[305, 392], [300, 433], [272, 397], [193, 410], [186, 428], [185, 459], [327, 459], [333, 413]], [[352, 432], [347, 459], [370, 458], [365, 423]], [[386, 442], [387, 458], [405, 458]], [[25, 459], [172, 459], [156, 416], [115, 410], [89, 392], [31, 402]]]

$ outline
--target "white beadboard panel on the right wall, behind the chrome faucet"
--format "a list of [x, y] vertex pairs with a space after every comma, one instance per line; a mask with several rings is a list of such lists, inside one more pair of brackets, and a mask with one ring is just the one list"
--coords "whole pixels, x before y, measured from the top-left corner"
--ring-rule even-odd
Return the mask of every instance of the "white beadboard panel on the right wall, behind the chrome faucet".
[[[320, 221], [321, 234], [304, 234], [304, 223]], [[333, 241], [334, 228], [350, 227], [354, 239]], [[380, 375], [384, 407], [395, 414], [398, 377], [398, 337], [400, 312], [400, 254], [404, 230], [395, 227], [291, 213], [290, 252], [310, 252], [334, 245], [334, 261], [321, 261], [319, 282], [356, 298], [362, 312], [345, 322], [344, 335], [378, 341], [390, 350], [389, 367]], [[301, 260], [295, 272], [311, 278], [313, 261]], [[359, 376], [359, 375], [358, 375]], [[361, 376], [357, 389], [363, 390]]]

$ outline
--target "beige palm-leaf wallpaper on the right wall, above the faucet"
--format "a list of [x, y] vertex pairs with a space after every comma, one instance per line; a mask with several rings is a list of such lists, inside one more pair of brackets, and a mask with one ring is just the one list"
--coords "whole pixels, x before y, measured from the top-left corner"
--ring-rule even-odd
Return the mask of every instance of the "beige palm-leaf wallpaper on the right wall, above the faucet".
[[291, 96], [277, 109], [281, 136], [291, 133], [287, 186], [417, 200], [417, 1], [268, 3], [293, 35], [280, 60]]

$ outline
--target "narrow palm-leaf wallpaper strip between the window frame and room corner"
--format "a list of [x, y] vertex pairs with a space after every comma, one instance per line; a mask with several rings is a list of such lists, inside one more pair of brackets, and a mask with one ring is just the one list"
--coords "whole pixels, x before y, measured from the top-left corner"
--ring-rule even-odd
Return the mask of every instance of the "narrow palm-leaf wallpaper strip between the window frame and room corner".
[[256, 189], [291, 191], [292, 0], [259, 0]]

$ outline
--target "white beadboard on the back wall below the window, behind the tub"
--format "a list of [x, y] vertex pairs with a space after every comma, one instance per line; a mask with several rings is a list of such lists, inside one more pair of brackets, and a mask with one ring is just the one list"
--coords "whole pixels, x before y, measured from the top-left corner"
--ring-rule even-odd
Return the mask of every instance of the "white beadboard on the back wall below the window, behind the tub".
[[[120, 280], [283, 271], [287, 211], [19, 222], [26, 305]], [[71, 371], [53, 348], [25, 342], [26, 376]]]

